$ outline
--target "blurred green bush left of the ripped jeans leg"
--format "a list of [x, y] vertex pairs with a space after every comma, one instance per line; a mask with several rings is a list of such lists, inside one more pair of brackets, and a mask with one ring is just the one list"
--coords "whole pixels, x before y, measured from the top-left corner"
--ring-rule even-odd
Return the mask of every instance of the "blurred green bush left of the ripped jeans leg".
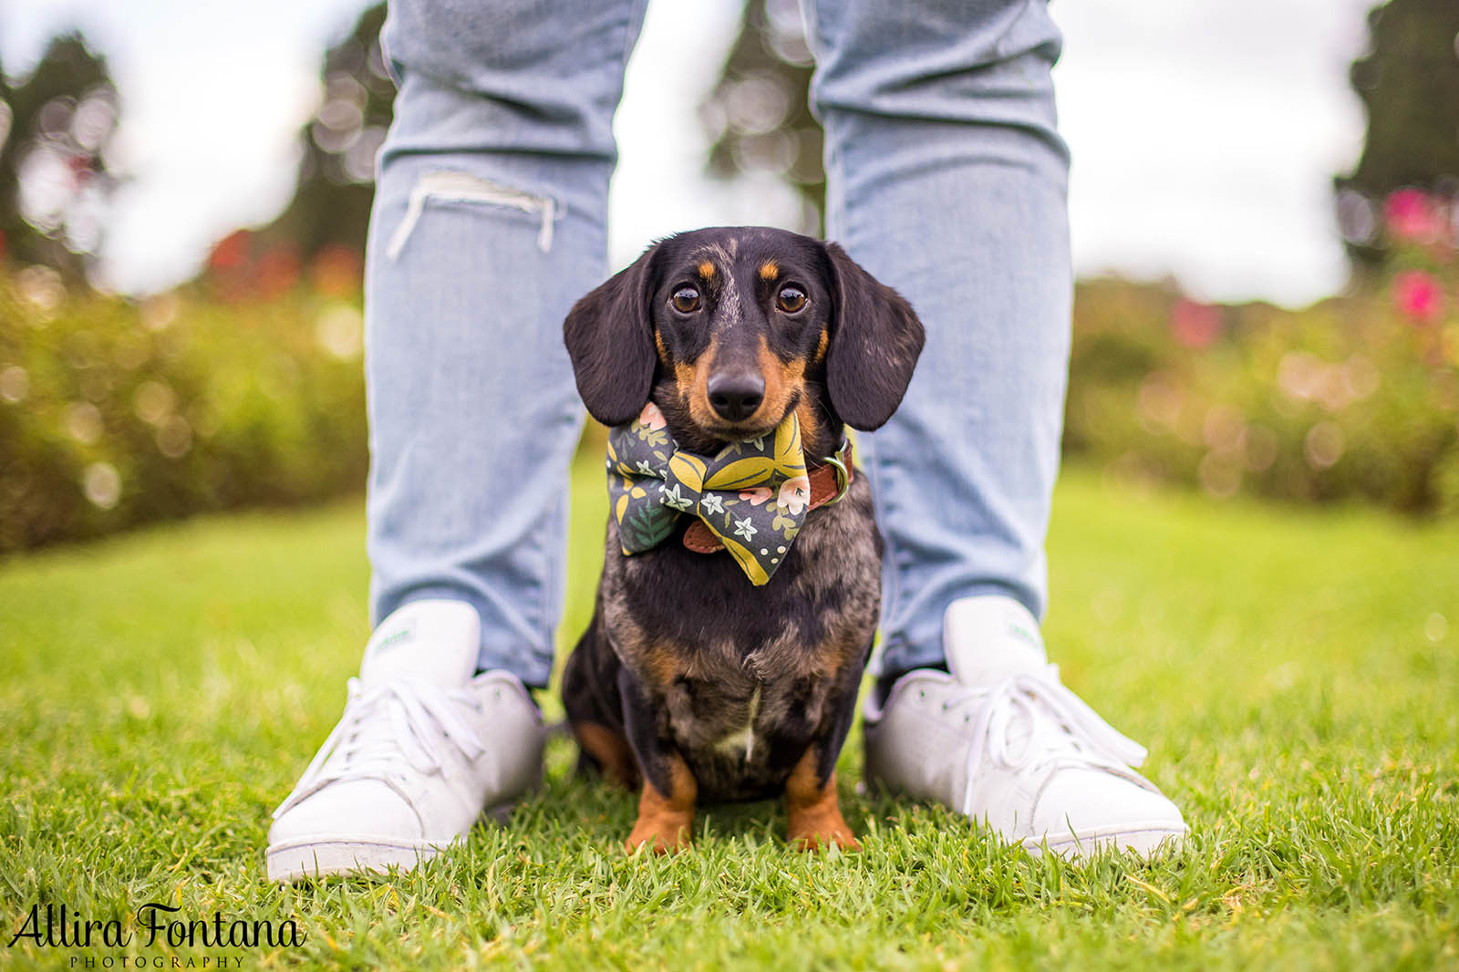
[[0, 550], [363, 489], [357, 299], [0, 273]]

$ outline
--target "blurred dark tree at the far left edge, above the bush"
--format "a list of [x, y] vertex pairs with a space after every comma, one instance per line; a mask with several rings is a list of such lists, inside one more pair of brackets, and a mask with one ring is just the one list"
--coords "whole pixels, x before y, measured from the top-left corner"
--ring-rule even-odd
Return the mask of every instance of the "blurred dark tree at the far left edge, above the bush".
[[105, 58], [54, 38], [29, 77], [0, 70], [0, 254], [85, 279], [117, 185], [107, 147], [120, 102]]

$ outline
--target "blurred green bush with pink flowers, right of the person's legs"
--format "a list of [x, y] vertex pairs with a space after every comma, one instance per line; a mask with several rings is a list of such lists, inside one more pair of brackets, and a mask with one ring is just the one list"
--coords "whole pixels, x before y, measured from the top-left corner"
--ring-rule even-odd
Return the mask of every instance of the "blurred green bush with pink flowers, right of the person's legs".
[[1065, 451], [1125, 483], [1218, 498], [1459, 512], [1456, 215], [1453, 200], [1393, 193], [1383, 276], [1297, 312], [1081, 283]]

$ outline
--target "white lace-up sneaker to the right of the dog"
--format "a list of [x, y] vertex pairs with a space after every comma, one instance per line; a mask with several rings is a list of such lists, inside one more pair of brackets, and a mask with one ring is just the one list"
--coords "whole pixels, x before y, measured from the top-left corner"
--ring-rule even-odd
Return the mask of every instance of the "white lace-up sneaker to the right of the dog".
[[937, 800], [1030, 854], [1100, 846], [1148, 855], [1189, 828], [1131, 766], [1139, 744], [1059, 683], [1033, 616], [1017, 601], [948, 606], [951, 673], [909, 671], [886, 702], [867, 703], [867, 778]]

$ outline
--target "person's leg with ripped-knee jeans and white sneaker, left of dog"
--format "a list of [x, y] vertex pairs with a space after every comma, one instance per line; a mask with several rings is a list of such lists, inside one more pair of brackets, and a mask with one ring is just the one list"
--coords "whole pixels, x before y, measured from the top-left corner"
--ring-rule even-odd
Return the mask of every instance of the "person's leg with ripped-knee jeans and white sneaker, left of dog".
[[392, 0], [365, 273], [371, 636], [274, 811], [273, 880], [413, 867], [541, 776], [581, 426], [562, 321], [605, 274], [643, 0]]

